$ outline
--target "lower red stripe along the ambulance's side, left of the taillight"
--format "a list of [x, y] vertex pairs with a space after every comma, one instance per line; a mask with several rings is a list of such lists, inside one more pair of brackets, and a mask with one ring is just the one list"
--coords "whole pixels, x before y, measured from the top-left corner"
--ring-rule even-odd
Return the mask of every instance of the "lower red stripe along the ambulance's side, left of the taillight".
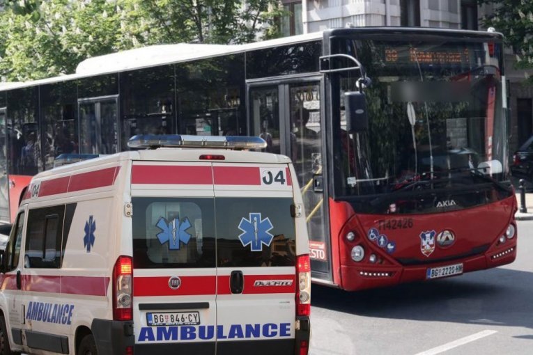
[[[22, 290], [84, 296], [106, 296], [109, 277], [22, 275]], [[16, 276], [6, 275], [2, 290], [17, 290]]]

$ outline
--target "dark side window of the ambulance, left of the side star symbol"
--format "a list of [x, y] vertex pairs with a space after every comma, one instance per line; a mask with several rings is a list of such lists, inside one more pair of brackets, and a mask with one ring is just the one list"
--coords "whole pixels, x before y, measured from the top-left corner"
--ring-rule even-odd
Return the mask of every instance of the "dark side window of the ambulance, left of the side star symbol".
[[65, 205], [37, 208], [28, 212], [24, 267], [59, 268]]

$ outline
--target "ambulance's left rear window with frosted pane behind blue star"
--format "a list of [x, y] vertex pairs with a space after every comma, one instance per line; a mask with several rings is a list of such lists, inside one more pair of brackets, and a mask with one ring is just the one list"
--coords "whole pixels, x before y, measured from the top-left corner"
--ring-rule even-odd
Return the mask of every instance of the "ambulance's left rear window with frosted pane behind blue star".
[[215, 267], [213, 198], [133, 198], [137, 269]]

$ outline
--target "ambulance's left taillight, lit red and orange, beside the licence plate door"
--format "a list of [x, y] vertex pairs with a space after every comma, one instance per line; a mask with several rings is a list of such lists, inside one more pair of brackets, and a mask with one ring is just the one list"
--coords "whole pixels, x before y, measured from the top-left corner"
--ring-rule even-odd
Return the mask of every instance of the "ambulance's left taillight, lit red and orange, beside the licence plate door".
[[133, 262], [130, 256], [119, 256], [113, 268], [113, 319], [132, 320]]

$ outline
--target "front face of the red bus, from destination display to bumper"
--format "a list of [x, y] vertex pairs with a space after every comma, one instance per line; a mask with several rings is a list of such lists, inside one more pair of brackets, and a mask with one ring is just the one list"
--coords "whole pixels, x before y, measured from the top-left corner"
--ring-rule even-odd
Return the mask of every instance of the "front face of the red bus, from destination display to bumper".
[[362, 290], [513, 262], [502, 53], [496, 33], [332, 32], [330, 243], [310, 236], [332, 278], [314, 281]]

